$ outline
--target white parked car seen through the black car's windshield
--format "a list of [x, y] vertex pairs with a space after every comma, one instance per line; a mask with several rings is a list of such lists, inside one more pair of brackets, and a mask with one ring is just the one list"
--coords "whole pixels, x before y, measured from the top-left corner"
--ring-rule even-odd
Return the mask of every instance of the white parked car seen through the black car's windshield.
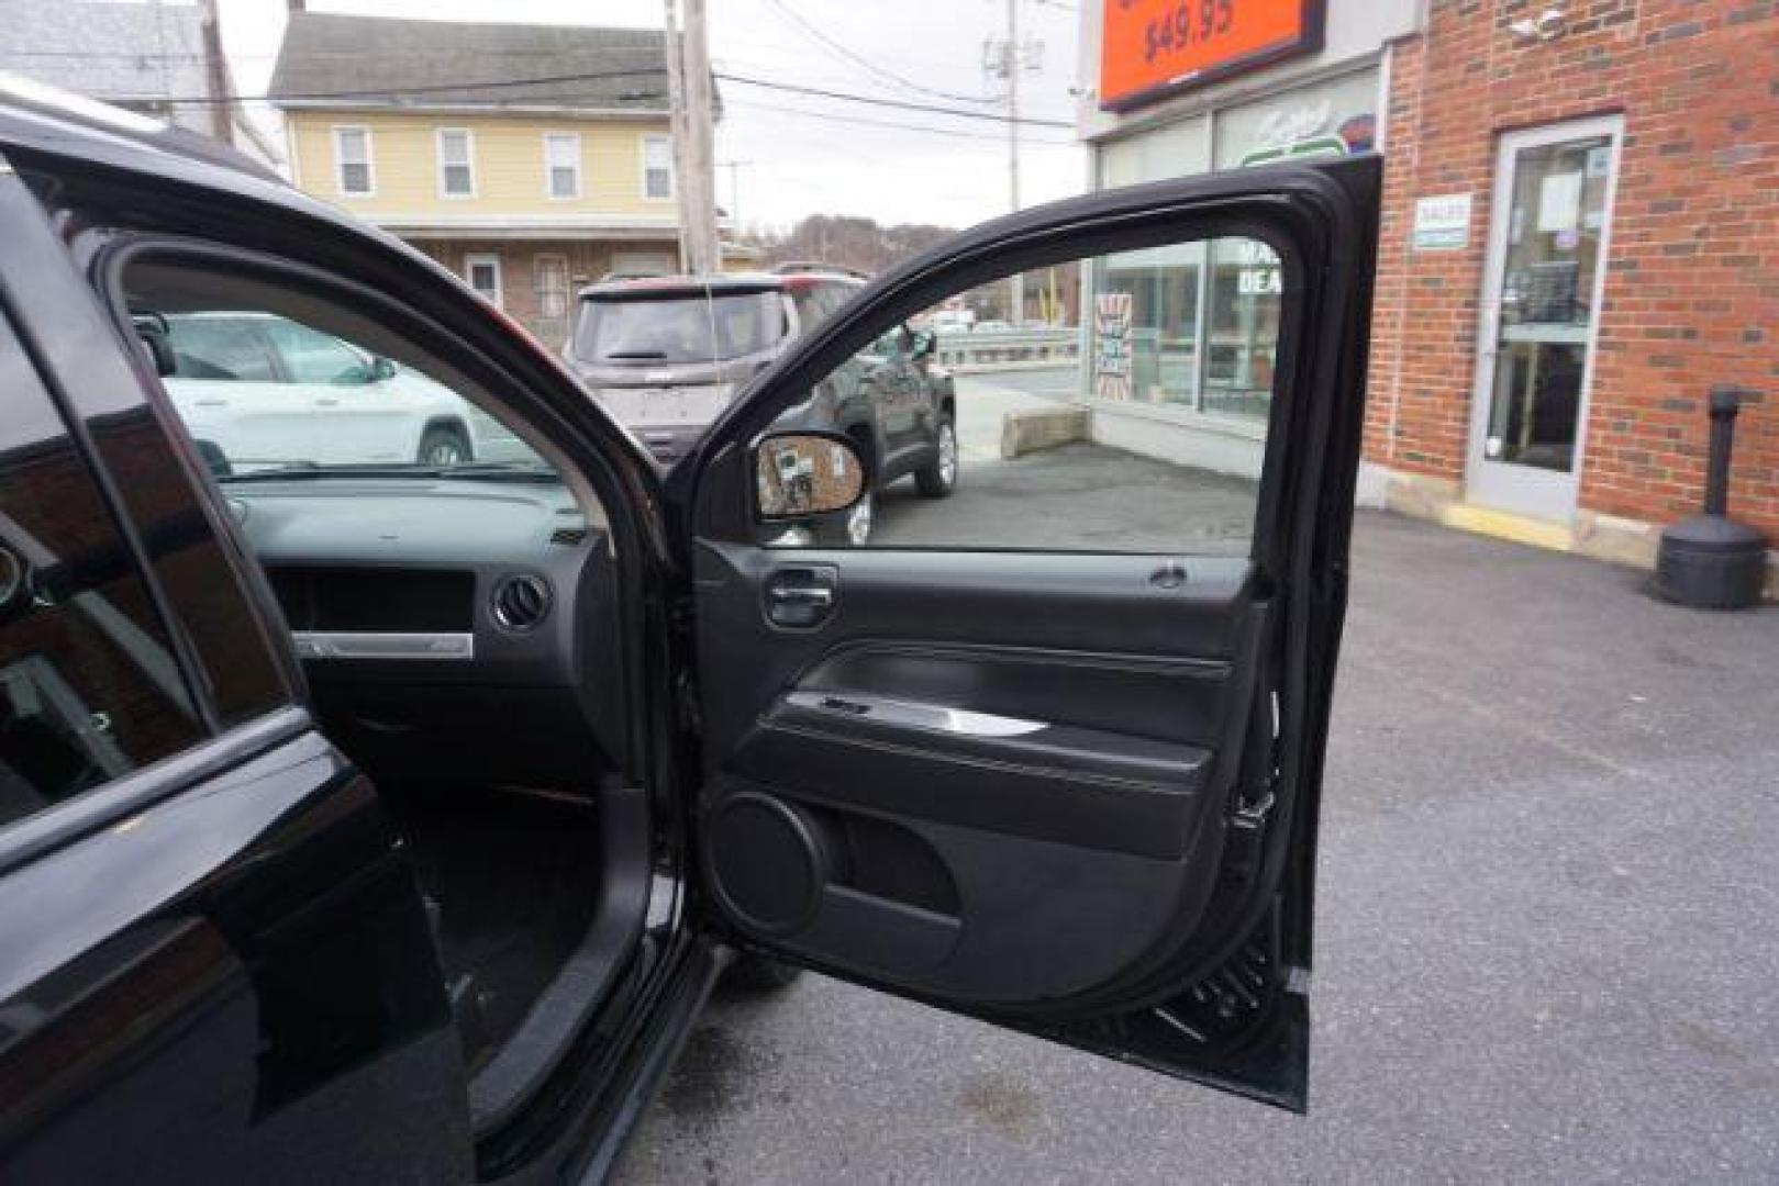
[[475, 430], [495, 427], [425, 375], [285, 317], [164, 313], [137, 331], [165, 338], [167, 395], [224, 469], [455, 466], [480, 453]]

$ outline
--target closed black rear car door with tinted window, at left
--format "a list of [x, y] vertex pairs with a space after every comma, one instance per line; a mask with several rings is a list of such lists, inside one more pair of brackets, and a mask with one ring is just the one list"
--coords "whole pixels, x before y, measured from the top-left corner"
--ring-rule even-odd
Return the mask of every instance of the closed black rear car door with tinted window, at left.
[[0, 242], [0, 1179], [463, 1179], [407, 855], [4, 160]]

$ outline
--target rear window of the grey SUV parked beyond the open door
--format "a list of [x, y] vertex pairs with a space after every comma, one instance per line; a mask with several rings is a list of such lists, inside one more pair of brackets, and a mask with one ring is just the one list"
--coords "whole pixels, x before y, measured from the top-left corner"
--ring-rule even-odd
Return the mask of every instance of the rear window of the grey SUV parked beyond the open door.
[[760, 354], [785, 336], [777, 292], [591, 297], [575, 356], [589, 363], [710, 363]]

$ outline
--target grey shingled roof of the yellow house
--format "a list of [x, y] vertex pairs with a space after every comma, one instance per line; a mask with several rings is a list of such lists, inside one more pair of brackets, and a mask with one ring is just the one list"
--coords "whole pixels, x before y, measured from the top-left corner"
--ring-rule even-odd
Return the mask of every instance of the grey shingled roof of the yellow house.
[[279, 107], [665, 112], [665, 34], [292, 12], [270, 96]]

